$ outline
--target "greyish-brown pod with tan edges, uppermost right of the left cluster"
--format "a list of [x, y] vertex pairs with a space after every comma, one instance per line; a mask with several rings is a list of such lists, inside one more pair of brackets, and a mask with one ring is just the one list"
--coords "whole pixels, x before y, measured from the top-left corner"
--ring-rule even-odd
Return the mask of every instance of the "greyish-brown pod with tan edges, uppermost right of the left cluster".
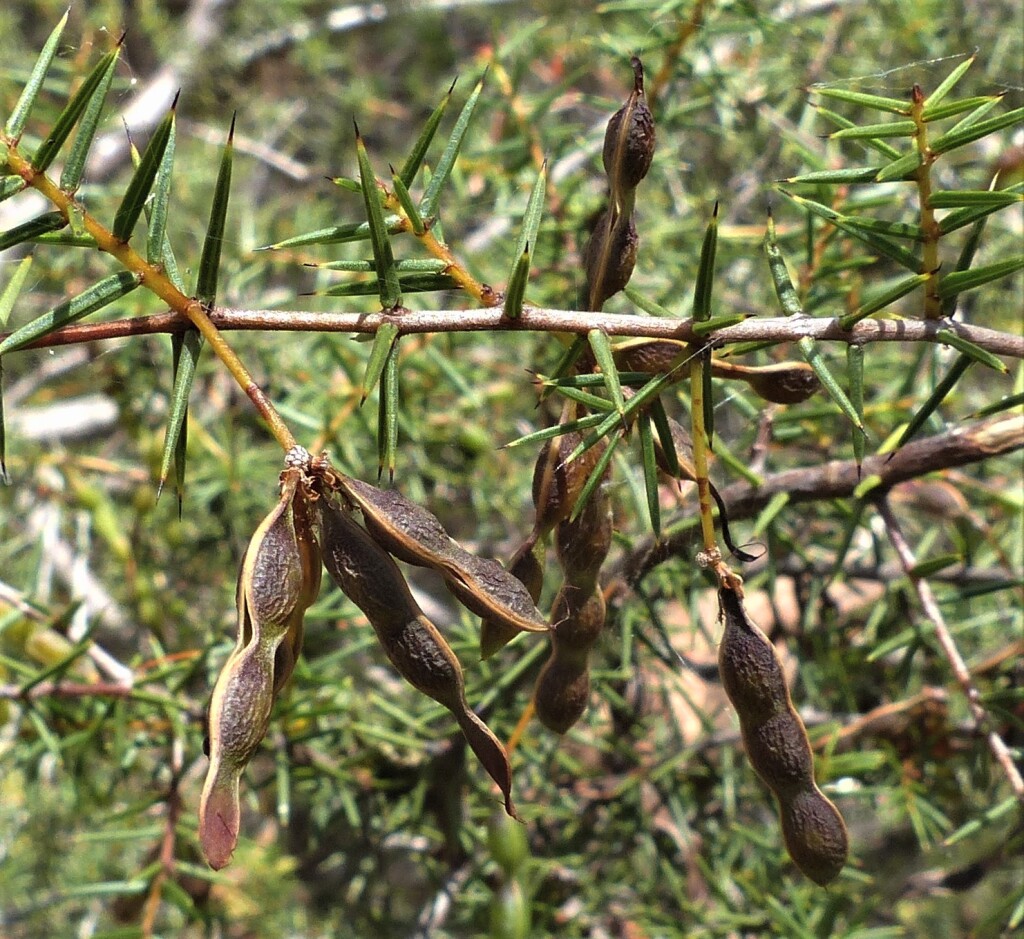
[[394, 489], [380, 489], [358, 479], [343, 477], [339, 486], [362, 512], [367, 530], [381, 547], [407, 563], [438, 571], [472, 612], [514, 631], [548, 631], [522, 583], [498, 561], [466, 551], [433, 513]]

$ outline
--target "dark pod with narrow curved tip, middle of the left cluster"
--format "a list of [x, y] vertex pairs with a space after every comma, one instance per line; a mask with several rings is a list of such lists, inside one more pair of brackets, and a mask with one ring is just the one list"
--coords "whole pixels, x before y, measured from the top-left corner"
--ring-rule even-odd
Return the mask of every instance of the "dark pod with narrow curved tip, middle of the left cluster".
[[452, 712], [473, 753], [501, 788], [505, 810], [514, 816], [508, 756], [466, 702], [459, 659], [413, 599], [391, 556], [336, 503], [322, 499], [317, 505], [328, 573], [366, 614], [398, 674]]

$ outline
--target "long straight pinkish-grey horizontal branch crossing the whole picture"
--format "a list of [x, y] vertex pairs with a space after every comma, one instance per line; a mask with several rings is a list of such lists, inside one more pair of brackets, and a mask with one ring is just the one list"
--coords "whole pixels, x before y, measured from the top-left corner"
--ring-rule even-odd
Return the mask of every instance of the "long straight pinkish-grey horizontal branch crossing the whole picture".
[[[702, 338], [693, 334], [691, 319], [669, 319], [615, 313], [542, 309], [526, 306], [516, 319], [505, 317], [501, 307], [467, 310], [398, 310], [374, 313], [316, 313], [305, 310], [260, 310], [218, 307], [210, 316], [218, 330], [264, 330], [313, 333], [375, 333], [382, 324], [393, 323], [399, 335], [413, 333], [539, 332], [575, 333], [586, 336], [593, 329], [609, 336], [644, 336], [711, 342], [716, 346], [734, 342], [796, 342], [812, 339], [867, 344], [871, 342], [938, 342], [938, 333], [948, 330], [996, 355], [1024, 358], [1024, 337], [955, 321], [862, 319], [844, 330], [837, 317], [753, 316], [735, 326], [717, 330]], [[112, 323], [68, 326], [40, 339], [33, 347], [71, 345], [99, 339], [120, 339], [154, 333], [180, 333], [190, 324], [177, 313], [157, 313]], [[0, 333], [0, 339], [6, 333]]]

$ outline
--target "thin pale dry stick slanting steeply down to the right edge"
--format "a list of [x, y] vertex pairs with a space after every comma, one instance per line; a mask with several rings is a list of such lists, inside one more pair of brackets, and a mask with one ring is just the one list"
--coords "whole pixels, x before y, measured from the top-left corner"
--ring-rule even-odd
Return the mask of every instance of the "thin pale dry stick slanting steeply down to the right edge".
[[984, 732], [988, 749], [995, 758], [995, 762], [1002, 767], [1002, 771], [1010, 780], [1010, 787], [1014, 791], [1014, 795], [1018, 800], [1024, 803], [1024, 779], [1021, 778], [1020, 770], [1017, 769], [1013, 755], [1010, 753], [1010, 748], [1007, 746], [1002, 737], [994, 730], [987, 729], [990, 720], [985, 706], [981, 702], [981, 692], [975, 687], [971, 673], [968, 671], [967, 663], [964, 661], [964, 657], [961, 655], [959, 649], [956, 647], [956, 643], [953, 641], [953, 637], [946, 627], [942, 610], [939, 609], [939, 604], [935, 600], [935, 594], [932, 593], [931, 584], [928, 583], [926, 578], [914, 573], [918, 560], [913, 555], [913, 550], [903, 537], [899, 520], [893, 514], [889, 500], [883, 496], [874, 501], [874, 508], [885, 523], [886, 535], [889, 536], [889, 541], [892, 543], [893, 549], [899, 557], [903, 572], [909, 579], [910, 583], [913, 584], [914, 592], [921, 601], [922, 611], [935, 629], [935, 638], [938, 639], [942, 653], [945, 655], [946, 661], [949, 663], [949, 668], [952, 669], [953, 677], [956, 679], [956, 683], [961, 686], [961, 690], [967, 698], [968, 707], [971, 709], [971, 716], [974, 718], [976, 731], [978, 733]]

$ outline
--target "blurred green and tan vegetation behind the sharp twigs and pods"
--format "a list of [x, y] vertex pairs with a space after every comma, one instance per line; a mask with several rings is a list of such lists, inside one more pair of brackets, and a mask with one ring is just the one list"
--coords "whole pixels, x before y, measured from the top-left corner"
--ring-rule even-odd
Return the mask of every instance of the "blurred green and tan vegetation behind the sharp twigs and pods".
[[[63, 10], [50, 0], [0, 9], [0, 114], [17, 100]], [[97, 147], [82, 191], [90, 209], [109, 217], [130, 175], [118, 110], [169, 70], [170, 92], [127, 123], [141, 143], [144, 119], [161, 117], [182, 88], [169, 233], [186, 282], [237, 111], [219, 302], [371, 311], [373, 298], [300, 296], [340, 280], [303, 262], [364, 257], [366, 245], [256, 249], [361, 217], [358, 194], [325, 178], [357, 175], [353, 118], [384, 175], [452, 80], [461, 105], [489, 66], [442, 202], [444, 234], [476, 276], [500, 286], [543, 155], [551, 186], [528, 297], [571, 309], [588, 221], [604, 199], [604, 125], [629, 90], [636, 53], [655, 95], [658, 148], [639, 190], [633, 288], [687, 314], [718, 200], [716, 308], [777, 314], [760, 245], [771, 201], [783, 249], [813, 288], [808, 312], [831, 315], [893, 271], [887, 262], [844, 263], [856, 252], [842, 239], [809, 267], [805, 218], [772, 193], [779, 178], [862, 159], [855, 143], [821, 138], [833, 128], [806, 89], [906, 97], [920, 83], [927, 93], [977, 50], [959, 92], [1006, 91], [1000, 106], [1020, 106], [1021, 26], [1019, 4], [935, 0], [79, 3], [28, 136], [47, 127], [75, 78], [126, 29], [104, 124], [112, 142], [106, 156]], [[1014, 142], [1004, 132], [957, 152], [942, 166], [943, 186], [984, 188], [996, 164], [1019, 168]], [[902, 189], [870, 198], [879, 214], [913, 220]], [[19, 205], [0, 206], [0, 229], [24, 220]], [[1019, 251], [1021, 232], [1019, 207], [993, 216], [981, 261]], [[947, 263], [959, 244], [950, 239]], [[396, 251], [420, 256], [403, 241]], [[11, 326], [112, 269], [87, 253], [35, 253], [31, 292]], [[11, 260], [0, 266], [0, 287]], [[159, 309], [137, 296], [104, 315]], [[1019, 333], [1021, 296], [1017, 274], [972, 294], [961, 312]], [[904, 302], [897, 309], [913, 313], [920, 299]], [[465, 300], [428, 294], [407, 303]], [[635, 307], [618, 296], [607, 309]], [[229, 338], [303, 442], [323, 435], [342, 469], [374, 478], [375, 402], [358, 407], [369, 346], [338, 334]], [[560, 351], [542, 334], [401, 344], [396, 481], [479, 553], [506, 558], [530, 524], [536, 452], [501, 447], [556, 417], [536, 408], [526, 370], [550, 372]], [[842, 375], [844, 349], [824, 351]], [[819, 781], [851, 829], [852, 862], [826, 891], [790, 863], [771, 796], [748, 766], [714, 681], [714, 592], [693, 563], [693, 528], [687, 550], [614, 606], [585, 721], [561, 739], [535, 723], [515, 751], [528, 857], [513, 876], [529, 910], [526, 932], [514, 931], [522, 921], [508, 890], [508, 908], [495, 911], [509, 874], [487, 840], [500, 806], [488, 781], [466, 760], [447, 714], [399, 683], [333, 587], [307, 614], [304, 657], [247, 774], [234, 860], [212, 873], [196, 845], [203, 714], [233, 641], [239, 560], [275, 499], [281, 454], [205, 354], [180, 517], [173, 493], [157, 503], [169, 353], [168, 338], [156, 336], [4, 358], [11, 484], [0, 488], [0, 934], [945, 939], [1009, 935], [1024, 922], [1019, 803], [975, 732], [877, 518], [868, 509], [851, 521], [849, 500], [782, 506], [737, 524], [737, 537], [769, 549], [748, 575], [752, 612], [787, 650]], [[775, 349], [748, 360], [795, 355]], [[867, 347], [869, 452], [920, 407], [951, 358], [932, 344]], [[923, 434], [1024, 390], [1020, 365], [1008, 365], [1007, 376], [969, 371]], [[852, 457], [849, 425], [822, 395], [772, 409], [745, 387], [716, 389], [721, 440], [759, 472]], [[612, 566], [649, 535], [639, 461], [624, 451], [613, 467]], [[1018, 454], [891, 496], [919, 560], [952, 557], [935, 582], [941, 608], [1018, 763], [1021, 470]], [[713, 472], [722, 485], [738, 478], [722, 461]], [[669, 530], [685, 532], [693, 494], [665, 486], [663, 496]], [[472, 617], [435, 581], [411, 580], [464, 663], [469, 700], [507, 739], [546, 643], [523, 636], [481, 664]], [[105, 669], [86, 654], [90, 642], [113, 659]], [[681, 667], [676, 653], [696, 668]], [[130, 692], [22, 696], [40, 679], [111, 684], [117, 674], [131, 676]]]

